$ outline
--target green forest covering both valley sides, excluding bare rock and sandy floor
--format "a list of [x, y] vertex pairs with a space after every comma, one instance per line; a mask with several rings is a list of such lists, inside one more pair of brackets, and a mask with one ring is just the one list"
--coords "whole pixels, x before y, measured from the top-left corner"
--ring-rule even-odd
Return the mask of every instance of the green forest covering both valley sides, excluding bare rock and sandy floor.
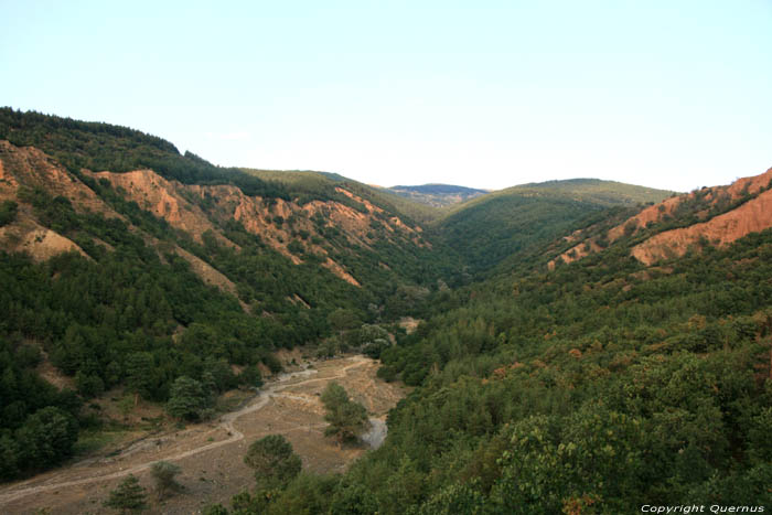
[[[343, 474], [298, 473], [291, 449], [267, 441], [254, 452], [290, 463], [291, 473], [269, 495], [239, 497], [237, 513], [772, 503], [772, 230], [721, 247], [701, 242], [653, 266], [631, 256], [643, 239], [751, 195], [720, 205], [693, 195], [667, 219], [549, 269], [577, 235], [600, 242], [668, 192], [594, 180], [530, 184], [460, 206], [421, 246], [389, 239], [383, 223], [399, 215], [412, 229], [416, 218], [400, 211], [408, 201], [345, 178], [221, 169], [138, 131], [12, 109], [0, 109], [0, 139], [44, 150], [120, 215], [76, 210], [42, 189], [0, 204], [1, 230], [32, 217], [84, 251], [46, 260], [0, 251], [3, 480], [72, 455], [78, 431], [100, 423], [88, 403], [105, 391], [200, 420], [217, 394], [278, 371], [272, 351], [319, 343], [324, 355], [361, 348], [380, 360], [382, 378], [412, 390], [390, 412], [384, 446]], [[384, 212], [368, 244], [317, 216], [315, 236], [292, 233], [302, 257], [292, 262], [235, 219], [214, 221], [196, 239], [81, 170], [138, 167], [303, 205], [341, 202], [355, 216], [368, 212], [364, 201]], [[205, 199], [192, 202], [212, 211]], [[361, 285], [300, 244], [313, 238]], [[235, 293], [202, 281], [178, 247]], [[395, 330], [403, 315], [421, 319], [415, 332]], [[42, 379], [44, 362], [74, 389]], [[245, 501], [257, 497], [259, 506]]]

